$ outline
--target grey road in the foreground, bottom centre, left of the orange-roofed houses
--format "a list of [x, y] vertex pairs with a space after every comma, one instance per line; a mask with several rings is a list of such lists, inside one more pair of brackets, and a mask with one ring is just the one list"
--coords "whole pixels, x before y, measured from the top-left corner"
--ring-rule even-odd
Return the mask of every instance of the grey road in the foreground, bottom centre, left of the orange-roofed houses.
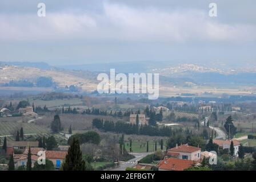
[[152, 152], [132, 152], [130, 153], [131, 155], [134, 155], [135, 158], [131, 159], [131, 160], [128, 160], [126, 162], [124, 161], [121, 161], [120, 162], [120, 166], [117, 167], [117, 168], [114, 168], [114, 169], [111, 169], [111, 171], [125, 171], [125, 169], [127, 167], [134, 167], [139, 160], [141, 160], [142, 158], [144, 158], [146, 155], [149, 155], [149, 154], [153, 154]]

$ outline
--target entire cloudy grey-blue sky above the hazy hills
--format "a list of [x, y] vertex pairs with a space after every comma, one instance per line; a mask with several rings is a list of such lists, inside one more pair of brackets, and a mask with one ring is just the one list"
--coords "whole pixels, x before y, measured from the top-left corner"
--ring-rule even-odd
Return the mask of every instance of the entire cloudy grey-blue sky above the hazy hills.
[[[37, 15], [45, 3], [46, 16]], [[217, 17], [209, 16], [209, 3]], [[256, 64], [254, 0], [1, 0], [0, 61]]]

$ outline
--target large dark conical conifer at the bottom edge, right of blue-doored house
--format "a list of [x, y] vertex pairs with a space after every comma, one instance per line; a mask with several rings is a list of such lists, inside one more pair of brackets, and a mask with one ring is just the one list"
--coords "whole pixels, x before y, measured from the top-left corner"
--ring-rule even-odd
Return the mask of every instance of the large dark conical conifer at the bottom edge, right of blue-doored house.
[[82, 159], [79, 140], [73, 138], [67, 152], [65, 163], [62, 164], [63, 171], [87, 171], [91, 170], [90, 164]]

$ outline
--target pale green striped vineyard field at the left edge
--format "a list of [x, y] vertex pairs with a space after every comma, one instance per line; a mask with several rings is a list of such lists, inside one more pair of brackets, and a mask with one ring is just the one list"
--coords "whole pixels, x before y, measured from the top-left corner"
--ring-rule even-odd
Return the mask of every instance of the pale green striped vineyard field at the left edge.
[[14, 140], [15, 133], [17, 130], [20, 130], [23, 127], [23, 132], [25, 138], [29, 135], [35, 136], [45, 136], [48, 137], [49, 130], [45, 129], [42, 126], [35, 125], [34, 123], [15, 123], [15, 122], [0, 122], [0, 143], [3, 143], [5, 135], [7, 135], [7, 140]]

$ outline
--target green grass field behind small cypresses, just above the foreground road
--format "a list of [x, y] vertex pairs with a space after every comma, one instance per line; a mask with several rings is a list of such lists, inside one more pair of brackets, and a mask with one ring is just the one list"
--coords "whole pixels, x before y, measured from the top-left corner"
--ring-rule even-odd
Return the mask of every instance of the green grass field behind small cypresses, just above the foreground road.
[[[126, 151], [130, 151], [130, 142], [125, 142], [125, 149]], [[157, 142], [157, 149], [160, 149], [161, 145], [159, 142]], [[165, 150], [165, 140], [163, 141], [163, 149]], [[131, 150], [133, 152], [147, 152], [147, 143], [145, 142], [145, 145], [142, 144], [140, 146], [140, 143], [138, 141], [133, 141], [131, 144]], [[154, 141], [149, 141], [149, 152], [154, 152], [155, 151], [155, 142]]]

